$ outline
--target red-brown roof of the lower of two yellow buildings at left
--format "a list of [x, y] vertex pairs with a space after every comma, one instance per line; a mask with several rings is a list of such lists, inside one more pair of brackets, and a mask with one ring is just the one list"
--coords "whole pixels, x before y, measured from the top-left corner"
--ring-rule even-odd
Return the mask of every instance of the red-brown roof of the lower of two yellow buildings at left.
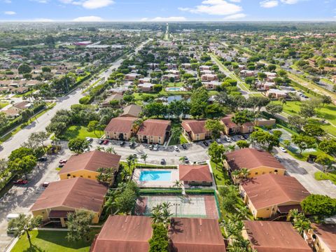
[[107, 188], [92, 179], [74, 178], [49, 183], [31, 211], [69, 207], [99, 212]]

